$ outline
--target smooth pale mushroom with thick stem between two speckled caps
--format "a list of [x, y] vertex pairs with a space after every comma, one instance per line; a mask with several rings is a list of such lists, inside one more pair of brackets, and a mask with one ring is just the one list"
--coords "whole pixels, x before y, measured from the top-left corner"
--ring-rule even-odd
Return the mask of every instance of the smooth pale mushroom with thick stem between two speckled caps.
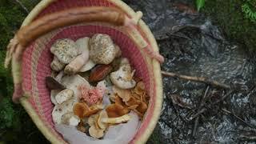
[[66, 67], [64, 72], [66, 74], [75, 74], [80, 71], [82, 66], [89, 61], [90, 51], [89, 51], [89, 39], [88, 37], [79, 38], [75, 43], [78, 50], [82, 53], [78, 55], [72, 62], [70, 62]]

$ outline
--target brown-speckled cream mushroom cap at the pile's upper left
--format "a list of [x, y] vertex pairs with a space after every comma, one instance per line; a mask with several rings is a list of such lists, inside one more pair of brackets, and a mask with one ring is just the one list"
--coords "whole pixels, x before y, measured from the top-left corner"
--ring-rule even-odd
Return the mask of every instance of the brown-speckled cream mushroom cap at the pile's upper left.
[[77, 49], [72, 39], [59, 39], [50, 47], [50, 52], [54, 54], [62, 63], [70, 63], [81, 52]]

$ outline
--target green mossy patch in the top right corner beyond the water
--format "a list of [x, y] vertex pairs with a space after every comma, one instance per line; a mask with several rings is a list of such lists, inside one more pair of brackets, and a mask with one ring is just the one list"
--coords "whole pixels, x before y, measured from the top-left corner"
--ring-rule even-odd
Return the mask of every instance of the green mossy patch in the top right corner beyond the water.
[[220, 26], [226, 38], [256, 51], [256, 23], [245, 18], [242, 13], [244, 0], [207, 0], [203, 13], [210, 16]]

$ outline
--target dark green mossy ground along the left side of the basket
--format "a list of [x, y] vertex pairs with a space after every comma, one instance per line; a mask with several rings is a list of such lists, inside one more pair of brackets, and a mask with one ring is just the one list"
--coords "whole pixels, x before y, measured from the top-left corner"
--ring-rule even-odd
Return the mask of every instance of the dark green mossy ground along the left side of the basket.
[[[22, 0], [31, 10], [39, 0]], [[47, 143], [26, 111], [11, 101], [13, 81], [3, 62], [6, 46], [20, 27], [26, 11], [15, 1], [0, 0], [0, 143]]]

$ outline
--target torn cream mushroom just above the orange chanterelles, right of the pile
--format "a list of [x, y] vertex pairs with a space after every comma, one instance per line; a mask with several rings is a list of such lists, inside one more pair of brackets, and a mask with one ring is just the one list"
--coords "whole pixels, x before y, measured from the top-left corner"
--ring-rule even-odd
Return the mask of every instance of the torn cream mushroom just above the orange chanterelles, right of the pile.
[[119, 70], [110, 74], [111, 81], [121, 89], [130, 89], [136, 85], [133, 79], [134, 71], [129, 64], [122, 65]]

